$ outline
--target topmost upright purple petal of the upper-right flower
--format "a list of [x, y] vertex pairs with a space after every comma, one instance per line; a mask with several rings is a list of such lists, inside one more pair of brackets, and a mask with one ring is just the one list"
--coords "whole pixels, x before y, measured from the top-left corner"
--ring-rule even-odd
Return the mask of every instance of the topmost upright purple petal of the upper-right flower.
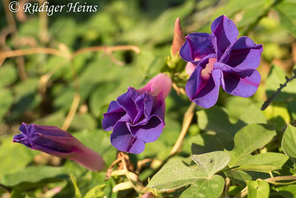
[[212, 43], [219, 61], [228, 46], [235, 42], [239, 36], [239, 31], [234, 22], [225, 15], [219, 16], [213, 21], [211, 30], [214, 36]]

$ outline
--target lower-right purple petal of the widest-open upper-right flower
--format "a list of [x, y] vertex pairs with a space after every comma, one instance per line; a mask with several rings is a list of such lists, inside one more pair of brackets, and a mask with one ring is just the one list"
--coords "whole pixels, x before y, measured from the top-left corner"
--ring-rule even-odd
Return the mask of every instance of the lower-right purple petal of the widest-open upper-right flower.
[[257, 91], [260, 80], [260, 73], [254, 69], [223, 72], [221, 86], [228, 94], [247, 98]]

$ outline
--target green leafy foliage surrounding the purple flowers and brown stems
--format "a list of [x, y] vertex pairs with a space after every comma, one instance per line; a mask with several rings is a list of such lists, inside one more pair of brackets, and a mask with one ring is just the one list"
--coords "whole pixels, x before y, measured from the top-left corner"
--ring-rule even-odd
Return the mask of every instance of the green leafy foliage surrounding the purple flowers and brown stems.
[[[72, 1], [49, 1], [50, 5], [69, 2]], [[277, 185], [266, 180], [271, 174], [296, 173], [296, 80], [266, 110], [260, 110], [264, 100], [286, 81], [285, 75], [291, 77], [296, 68], [296, 0], [79, 2], [98, 5], [98, 11], [57, 12], [46, 17], [47, 23], [39, 13], [26, 14], [24, 19], [14, 14], [17, 29], [6, 37], [9, 24], [2, 0], [0, 36], [5, 42], [0, 43], [0, 54], [34, 47], [74, 52], [92, 46], [119, 45], [134, 45], [141, 52], [88, 52], [72, 61], [50, 54], [5, 59], [0, 66], [0, 184], [9, 193], [0, 187], [0, 196], [127, 198], [157, 191], [159, 197], [215, 198], [227, 196], [224, 185], [228, 177], [230, 197], [243, 192], [246, 186], [249, 198], [296, 197], [295, 184]], [[109, 102], [125, 93], [128, 86], [140, 88], [163, 71], [176, 74], [174, 82], [184, 87], [188, 78], [183, 72], [185, 62], [180, 60], [174, 69], [166, 63], [175, 19], [180, 17], [185, 35], [209, 33], [211, 22], [222, 14], [234, 20], [240, 36], [247, 35], [256, 44], [263, 44], [259, 90], [251, 98], [239, 98], [220, 89], [214, 107], [196, 108], [181, 152], [166, 162], [190, 105], [187, 96], [172, 89], [166, 99], [166, 127], [160, 138], [147, 144], [143, 153], [129, 154], [135, 168], [143, 159], [152, 161], [139, 172], [139, 179], [147, 186], [142, 193], [133, 188], [112, 192], [116, 184], [128, 181], [126, 177], [104, 181], [105, 171], [90, 172], [70, 160], [11, 143], [22, 122], [61, 127], [79, 93], [78, 110], [68, 131], [99, 152], [108, 167], [117, 157], [116, 149], [110, 145], [110, 133], [101, 129], [102, 113]], [[22, 78], [22, 67], [27, 78]], [[41, 87], [46, 74], [52, 75]], [[159, 170], [160, 164], [164, 166]]]

